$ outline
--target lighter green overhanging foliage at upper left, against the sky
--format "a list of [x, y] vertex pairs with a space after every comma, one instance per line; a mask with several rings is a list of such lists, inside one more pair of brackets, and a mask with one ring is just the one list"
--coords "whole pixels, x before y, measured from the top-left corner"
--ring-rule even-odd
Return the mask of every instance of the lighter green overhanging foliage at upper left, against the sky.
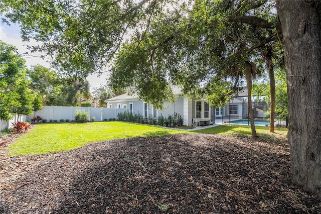
[[100, 71], [113, 58], [122, 39], [161, 10], [165, 0], [3, 0], [2, 14], [22, 27], [22, 38], [42, 41], [32, 47], [55, 56], [56, 70], [65, 76]]

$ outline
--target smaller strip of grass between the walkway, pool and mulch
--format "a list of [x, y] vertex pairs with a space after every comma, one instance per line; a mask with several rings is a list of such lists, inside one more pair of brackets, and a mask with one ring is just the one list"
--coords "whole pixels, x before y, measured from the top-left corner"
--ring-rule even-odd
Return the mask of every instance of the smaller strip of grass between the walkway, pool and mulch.
[[[286, 128], [275, 127], [274, 132], [269, 132], [269, 127], [256, 126], [256, 133], [259, 137], [276, 137], [276, 138], [285, 138], [287, 135]], [[244, 125], [222, 125], [217, 127], [212, 127], [209, 129], [202, 129], [197, 131], [192, 131], [195, 133], [206, 133], [206, 134], [220, 134], [220, 135], [235, 135], [235, 136], [251, 136], [251, 127]]]

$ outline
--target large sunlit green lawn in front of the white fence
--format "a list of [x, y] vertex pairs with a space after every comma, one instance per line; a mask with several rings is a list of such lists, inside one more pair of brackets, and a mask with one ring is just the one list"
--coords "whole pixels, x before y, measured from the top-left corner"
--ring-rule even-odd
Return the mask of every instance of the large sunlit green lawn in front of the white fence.
[[184, 133], [184, 131], [123, 122], [38, 124], [11, 144], [8, 151], [11, 156], [46, 154], [75, 149], [95, 141], [176, 133]]

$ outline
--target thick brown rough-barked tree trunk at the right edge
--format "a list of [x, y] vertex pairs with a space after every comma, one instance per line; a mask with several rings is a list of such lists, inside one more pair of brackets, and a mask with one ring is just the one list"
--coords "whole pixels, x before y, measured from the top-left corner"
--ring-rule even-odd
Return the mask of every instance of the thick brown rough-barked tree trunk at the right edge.
[[320, 2], [278, 1], [288, 94], [291, 178], [321, 196]]

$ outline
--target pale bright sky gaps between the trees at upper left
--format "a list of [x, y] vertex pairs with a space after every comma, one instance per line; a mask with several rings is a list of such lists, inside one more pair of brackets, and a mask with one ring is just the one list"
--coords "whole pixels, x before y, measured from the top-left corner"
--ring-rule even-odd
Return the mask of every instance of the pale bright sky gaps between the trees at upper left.
[[[46, 59], [42, 59], [40, 57], [40, 53], [33, 53], [32, 56], [24, 54], [27, 51], [27, 45], [36, 45], [37, 42], [31, 40], [30, 42], [23, 42], [20, 35], [20, 27], [14, 23], [10, 26], [4, 23], [1, 23], [0, 26], [0, 40], [5, 43], [11, 44], [16, 46], [18, 49], [18, 53], [22, 54], [23, 57], [26, 59], [26, 65], [28, 68], [31, 68], [32, 65], [43, 65], [45, 67], [50, 67], [49, 63]], [[97, 75], [90, 75], [87, 77], [91, 88], [95, 86], [99, 86], [101, 83], [105, 82], [106, 75], [101, 75], [101, 77], [97, 77]]]

